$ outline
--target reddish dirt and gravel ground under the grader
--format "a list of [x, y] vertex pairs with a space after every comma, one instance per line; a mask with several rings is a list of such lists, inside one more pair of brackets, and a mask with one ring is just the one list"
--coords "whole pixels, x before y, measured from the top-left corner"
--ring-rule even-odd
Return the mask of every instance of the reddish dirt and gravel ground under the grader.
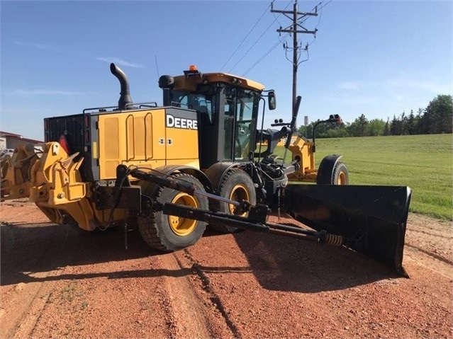
[[[276, 218], [274, 217], [274, 222]], [[453, 338], [453, 225], [410, 214], [410, 279], [345, 248], [206, 231], [162, 254], [0, 204], [1, 338]]]

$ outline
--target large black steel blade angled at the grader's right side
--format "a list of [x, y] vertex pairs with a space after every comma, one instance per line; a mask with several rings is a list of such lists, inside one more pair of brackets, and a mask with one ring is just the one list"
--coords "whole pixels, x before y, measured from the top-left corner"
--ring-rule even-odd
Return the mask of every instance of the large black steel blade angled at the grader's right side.
[[410, 202], [404, 186], [288, 185], [287, 212], [316, 231], [343, 236], [344, 245], [380, 261], [398, 274]]

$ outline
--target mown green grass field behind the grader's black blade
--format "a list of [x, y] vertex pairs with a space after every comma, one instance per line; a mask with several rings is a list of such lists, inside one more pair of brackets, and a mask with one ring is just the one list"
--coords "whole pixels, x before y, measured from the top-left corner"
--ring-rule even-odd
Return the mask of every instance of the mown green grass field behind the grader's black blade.
[[409, 186], [410, 212], [453, 220], [452, 145], [452, 134], [317, 139], [316, 167], [342, 154], [350, 185]]

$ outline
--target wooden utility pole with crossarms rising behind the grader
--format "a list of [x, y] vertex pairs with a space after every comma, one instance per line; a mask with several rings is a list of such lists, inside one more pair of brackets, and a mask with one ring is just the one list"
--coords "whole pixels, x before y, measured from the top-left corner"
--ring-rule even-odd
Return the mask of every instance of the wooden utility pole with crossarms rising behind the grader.
[[[289, 18], [293, 21], [291, 25], [287, 28], [280, 28], [277, 30], [279, 33], [292, 33], [293, 35], [293, 114], [295, 113], [294, 109], [296, 108], [296, 96], [297, 96], [297, 68], [298, 68], [298, 50], [301, 48], [297, 44], [297, 33], [305, 33], [305, 34], [313, 34], [316, 35], [317, 29], [315, 30], [307, 30], [301, 23], [298, 23], [301, 19], [305, 18], [306, 16], [318, 16], [318, 7], [315, 7], [315, 13], [304, 13], [299, 12], [297, 10], [297, 0], [294, 0], [293, 10], [292, 11], [280, 11], [278, 9], [274, 9], [274, 1], [271, 4], [271, 13], [281, 13], [286, 18]], [[290, 14], [292, 16], [290, 16]], [[288, 48], [284, 45], [284, 48]], [[308, 49], [308, 45], [306, 46], [306, 50]]]

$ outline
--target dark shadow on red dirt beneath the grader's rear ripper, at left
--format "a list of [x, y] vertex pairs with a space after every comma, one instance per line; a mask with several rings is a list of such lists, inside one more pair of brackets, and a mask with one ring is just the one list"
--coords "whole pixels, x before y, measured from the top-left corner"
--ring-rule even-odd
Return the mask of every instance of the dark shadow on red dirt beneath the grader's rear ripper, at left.
[[189, 272], [169, 270], [123, 270], [87, 275], [40, 277], [67, 265], [91, 265], [111, 261], [146, 258], [162, 253], [146, 246], [137, 230], [128, 231], [125, 248], [121, 227], [105, 232], [87, 232], [72, 226], [50, 222], [40, 224], [1, 224], [1, 285], [46, 280], [84, 279], [96, 276], [133, 277], [185, 275]]

